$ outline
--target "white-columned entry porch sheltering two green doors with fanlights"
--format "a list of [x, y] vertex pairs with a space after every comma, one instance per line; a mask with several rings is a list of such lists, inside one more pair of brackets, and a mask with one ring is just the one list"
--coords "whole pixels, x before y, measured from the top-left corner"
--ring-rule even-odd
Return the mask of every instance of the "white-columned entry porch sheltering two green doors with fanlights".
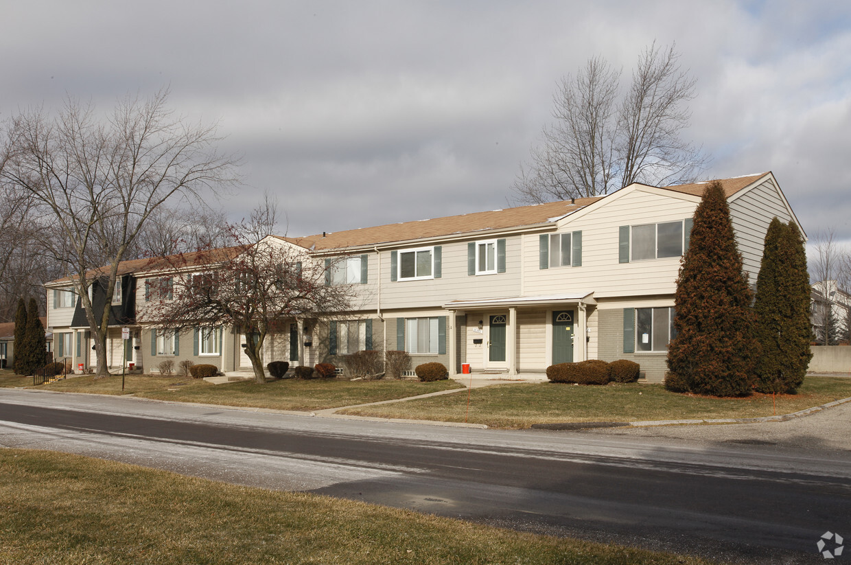
[[[593, 294], [583, 291], [448, 302], [443, 308], [449, 312], [450, 374], [457, 374], [461, 363], [516, 375], [542, 371], [557, 362], [584, 361], [589, 358], [588, 318], [597, 305]], [[467, 318], [463, 327], [469, 335], [459, 334], [461, 317]], [[580, 336], [578, 344], [576, 335]], [[459, 351], [462, 342], [466, 346]], [[535, 356], [534, 364], [518, 359], [520, 351], [528, 351], [534, 344], [543, 350], [543, 356]]]

